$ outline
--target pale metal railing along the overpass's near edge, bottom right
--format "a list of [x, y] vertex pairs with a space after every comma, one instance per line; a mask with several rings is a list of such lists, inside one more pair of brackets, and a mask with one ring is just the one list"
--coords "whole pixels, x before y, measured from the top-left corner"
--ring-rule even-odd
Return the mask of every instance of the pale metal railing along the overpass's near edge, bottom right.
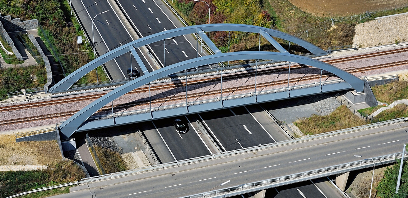
[[[408, 154], [408, 152], [405, 151], [405, 154]], [[392, 162], [395, 161], [395, 159], [401, 157], [402, 152], [394, 153], [394, 154], [389, 154], [389, 155], [384, 155], [380, 157], [375, 157], [373, 159], [377, 159], [381, 162]], [[349, 170], [350, 168], [358, 168], [364, 165], [369, 165], [373, 164], [372, 160], [361, 160], [361, 161], [354, 161], [350, 163], [344, 163], [340, 165], [335, 165], [335, 166], [330, 166], [326, 168], [320, 168], [316, 170], [311, 170], [311, 171], [306, 171], [306, 172], [301, 172], [301, 173], [296, 173], [296, 174], [291, 174], [287, 176], [282, 176], [282, 177], [276, 177], [276, 178], [271, 178], [263, 181], [257, 181], [253, 183], [247, 183], [244, 185], [239, 185], [239, 186], [233, 186], [233, 187], [228, 187], [224, 189], [219, 189], [215, 191], [210, 191], [208, 193], [200, 193], [200, 194], [195, 194], [191, 196], [185, 196], [183, 198], [203, 198], [204, 196], [211, 197], [211, 196], [217, 196], [217, 195], [224, 195], [228, 193], [233, 193], [233, 192], [239, 192], [239, 191], [244, 191], [244, 190], [251, 190], [259, 187], [267, 187], [268, 185], [273, 185], [273, 184], [279, 184], [283, 183], [286, 181], [293, 181], [297, 180], [300, 178], [305, 178], [305, 177], [310, 177], [310, 176], [315, 176], [315, 175], [322, 175], [325, 173], [331, 173], [331, 172], [339, 172], [341, 170]]]

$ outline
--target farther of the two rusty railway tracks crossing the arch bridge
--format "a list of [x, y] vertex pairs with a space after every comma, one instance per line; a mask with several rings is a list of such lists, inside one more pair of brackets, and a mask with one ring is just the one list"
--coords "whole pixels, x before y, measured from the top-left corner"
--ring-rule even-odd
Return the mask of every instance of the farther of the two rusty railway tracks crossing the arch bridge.
[[[363, 54], [363, 55], [357, 55], [353, 57], [345, 57], [345, 58], [340, 58], [340, 59], [333, 59], [333, 60], [328, 60], [324, 61], [325, 63], [341, 63], [345, 61], [355, 61], [358, 59], [365, 59], [365, 58], [370, 58], [370, 57], [377, 57], [377, 56], [383, 56], [383, 55], [388, 55], [388, 54], [395, 54], [395, 53], [400, 53], [400, 52], [407, 52], [408, 48], [401, 48], [401, 49], [395, 49], [395, 50], [388, 50], [388, 51], [383, 51], [383, 52], [374, 52], [370, 54]], [[290, 67], [290, 69], [295, 70], [299, 68], [305, 68], [309, 67], [307, 65], [293, 65]], [[280, 68], [271, 68], [268, 70], [261, 70], [258, 71], [258, 75], [265, 75], [265, 74], [271, 74], [274, 72], [282, 72], [282, 71], [287, 71], [288, 67], [280, 67]], [[231, 80], [234, 78], [243, 78], [243, 77], [248, 77], [248, 76], [253, 76], [253, 72], [247, 72], [247, 73], [242, 73], [242, 74], [233, 74], [233, 75], [228, 75], [224, 76], [224, 80]], [[219, 81], [219, 77], [212, 77], [212, 78], [206, 78], [206, 79], [199, 79], [195, 81], [188, 81], [187, 85], [193, 85], [197, 83], [209, 83], [209, 82], [214, 82], [214, 81]], [[182, 87], [185, 86], [184, 82], [180, 82], [177, 84], [168, 84], [168, 85], [157, 85], [157, 86], [151, 86], [151, 91], [155, 90], [162, 90], [162, 89], [170, 89], [170, 88], [175, 88], [175, 87]], [[136, 92], [145, 92], [149, 91], [147, 87], [141, 87], [134, 89], [133, 91], [130, 91], [127, 94], [134, 94]], [[24, 103], [24, 104], [17, 104], [17, 105], [10, 105], [6, 107], [1, 107], [0, 106], [0, 112], [4, 111], [16, 111], [16, 110], [21, 110], [21, 109], [28, 109], [28, 108], [35, 108], [35, 107], [44, 107], [44, 106], [50, 106], [50, 105], [55, 105], [55, 104], [64, 104], [64, 103], [69, 103], [69, 102], [81, 102], [85, 100], [96, 100], [100, 97], [102, 97], [104, 94], [93, 94], [90, 96], [79, 96], [79, 97], [72, 97], [72, 98], [64, 98], [64, 99], [55, 99], [55, 100], [49, 100], [49, 101], [41, 101], [41, 102], [31, 102], [31, 103]]]

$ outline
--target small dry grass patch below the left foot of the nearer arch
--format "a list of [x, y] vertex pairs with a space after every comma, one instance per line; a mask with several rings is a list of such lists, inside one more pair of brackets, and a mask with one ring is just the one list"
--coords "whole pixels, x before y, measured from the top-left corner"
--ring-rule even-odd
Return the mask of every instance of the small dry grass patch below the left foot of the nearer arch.
[[[93, 148], [95, 148], [95, 152], [98, 155], [99, 161], [101, 162], [105, 174], [128, 170], [126, 168], [126, 164], [124, 163], [122, 157], [118, 152], [96, 145], [93, 145]], [[91, 154], [93, 155], [92, 152]], [[93, 158], [95, 159], [94, 156]]]

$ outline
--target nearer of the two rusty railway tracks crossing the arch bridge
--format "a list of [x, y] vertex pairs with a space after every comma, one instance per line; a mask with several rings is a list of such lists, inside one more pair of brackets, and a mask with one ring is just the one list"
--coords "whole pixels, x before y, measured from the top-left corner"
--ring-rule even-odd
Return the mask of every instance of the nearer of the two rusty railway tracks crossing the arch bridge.
[[[386, 64], [380, 64], [380, 65], [373, 65], [373, 66], [368, 66], [368, 67], [360, 67], [360, 68], [350, 68], [347, 69], [347, 72], [350, 73], [356, 73], [356, 72], [366, 72], [370, 70], [375, 70], [375, 69], [383, 69], [387, 67], [395, 67], [395, 66], [401, 66], [401, 65], [407, 65], [408, 61], [397, 61], [393, 63], [386, 63]], [[322, 77], [328, 78], [330, 76], [335, 76], [334, 74], [331, 73], [326, 73]], [[301, 81], [307, 81], [307, 80], [313, 80], [313, 79], [319, 79], [320, 75], [315, 74], [315, 75], [310, 75], [310, 76], [303, 76], [303, 77], [298, 77], [298, 78], [291, 78], [290, 83], [297, 83]], [[273, 82], [268, 82], [268, 83], [259, 83], [257, 84], [257, 88], [265, 89], [274, 85], [282, 85], [282, 84], [287, 84], [287, 80], [280, 80], [280, 81], [273, 81]], [[184, 85], [180, 85], [184, 86]], [[240, 87], [231, 87], [231, 88], [226, 88], [223, 89], [222, 92], [224, 94], [232, 94], [235, 91], [243, 91], [243, 90], [253, 90], [255, 89], [255, 85], [245, 85], [245, 86], [240, 86]], [[136, 89], [135, 89], [136, 90]], [[135, 91], [134, 90], [134, 91]], [[199, 92], [199, 93], [193, 93], [193, 94], [187, 94], [187, 97], [190, 99], [196, 99], [204, 96], [213, 96], [220, 94], [220, 90], [213, 90], [213, 91], [205, 91], [205, 92]], [[98, 95], [103, 95], [103, 94], [98, 94]], [[98, 96], [100, 97], [100, 96]], [[78, 99], [77, 97], [76, 99]], [[171, 96], [171, 97], [165, 97], [165, 98], [159, 98], [151, 101], [151, 104], [157, 104], [157, 103], [163, 103], [163, 102], [170, 102], [170, 101], [176, 101], [176, 100], [185, 100], [185, 95], [182, 96]], [[72, 101], [72, 100], [71, 100]], [[126, 104], [118, 104], [114, 106], [114, 109], [116, 111], [122, 111], [125, 109], [129, 109], [130, 107], [137, 107], [137, 106], [143, 106], [149, 104], [149, 101], [140, 101], [140, 102], [131, 102], [131, 103], [126, 103]], [[105, 106], [101, 108], [97, 112], [101, 111], [106, 111], [109, 110], [111, 111], [111, 106]], [[38, 121], [38, 120], [45, 120], [45, 119], [51, 119], [51, 118], [58, 118], [58, 117], [67, 117], [75, 114], [77, 111], [67, 111], [67, 112], [62, 112], [62, 113], [56, 113], [56, 114], [47, 114], [47, 115], [41, 115], [41, 116], [33, 116], [33, 117], [26, 117], [26, 118], [20, 118], [20, 119], [13, 119], [13, 120], [4, 120], [0, 121], [0, 126], [2, 125], [8, 125], [8, 124], [18, 124], [22, 122], [32, 122], [32, 121]]]

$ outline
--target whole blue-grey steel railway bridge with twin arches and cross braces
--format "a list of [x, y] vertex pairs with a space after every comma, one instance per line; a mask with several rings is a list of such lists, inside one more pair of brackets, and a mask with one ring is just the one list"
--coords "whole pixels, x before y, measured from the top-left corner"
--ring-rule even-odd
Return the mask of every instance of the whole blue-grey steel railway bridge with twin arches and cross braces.
[[[277, 50], [279, 50], [279, 52], [248, 51], [248, 52], [221, 53], [221, 51], [218, 50], [218, 48], [205, 35], [204, 31], [240, 31], [240, 32], [259, 33], [264, 38], [266, 38]], [[213, 52], [215, 52], [215, 54], [182, 61], [180, 63], [175, 63], [173, 65], [169, 65], [169, 66], [160, 68], [159, 70], [149, 72], [146, 69], [146, 66], [142, 63], [142, 60], [140, 59], [140, 57], [137, 55], [137, 52], [135, 51], [135, 48], [139, 48], [147, 44], [154, 43], [156, 41], [161, 41], [161, 40], [164, 40], [170, 37], [182, 36], [182, 35], [192, 34], [192, 33], [198, 33], [198, 35], [202, 38], [202, 40], [211, 48]], [[100, 108], [104, 107], [106, 104], [115, 100], [116, 98], [119, 98], [120, 96], [126, 94], [127, 92], [133, 89], [136, 89], [137, 87], [140, 87], [142, 85], [146, 85], [150, 83], [151, 81], [155, 81], [159, 78], [162, 78], [163, 76], [168, 76], [168, 75], [171, 75], [177, 72], [188, 70], [188, 69], [196, 67], [197, 65], [207, 65], [207, 64], [212, 64], [212, 63], [236, 61], [236, 60], [244, 60], [244, 59], [289, 61], [289, 62], [295, 62], [295, 63], [305, 64], [305, 65], [311, 65], [313, 67], [317, 67], [321, 70], [326, 70], [332, 74], [335, 74], [336, 76], [338, 76], [339, 78], [341, 78], [342, 80], [346, 82], [342, 84], [341, 89], [353, 88], [357, 92], [364, 91], [365, 82], [362, 81], [360, 78], [357, 78], [353, 74], [350, 74], [344, 70], [341, 70], [338, 67], [335, 67], [333, 65], [330, 65], [330, 64], [327, 64], [321, 61], [317, 61], [315, 59], [310, 59], [308, 57], [302, 57], [302, 56], [298, 56], [294, 54], [289, 54], [288, 51], [286, 51], [280, 44], [278, 44], [277, 41], [275, 41], [275, 39], [273, 39], [273, 37], [281, 38], [281, 39], [293, 42], [295, 44], [298, 44], [299, 46], [302, 46], [303, 48], [309, 50], [311, 53], [315, 55], [327, 54], [326, 51], [318, 48], [317, 46], [313, 44], [310, 44], [307, 41], [294, 37], [293, 35], [288, 35], [286, 33], [282, 33], [277, 30], [272, 30], [272, 29], [263, 28], [259, 26], [251, 26], [251, 25], [243, 25], [243, 24], [206, 24], [206, 25], [188, 26], [188, 27], [176, 28], [176, 29], [167, 30], [161, 33], [149, 35], [142, 39], [137, 39], [126, 45], [116, 48], [115, 50], [111, 50], [110, 52], [100, 56], [98, 59], [95, 59], [87, 63], [86, 65], [82, 66], [81, 68], [71, 73], [66, 78], [64, 78], [62, 81], [60, 81], [59, 83], [51, 87], [50, 89], [51, 93], [57, 92], [57, 91], [68, 90], [82, 76], [91, 72], [99, 65], [102, 65], [106, 63], [107, 61], [110, 61], [111, 59], [114, 59], [115, 57], [118, 57], [127, 52], [132, 53], [138, 65], [140, 66], [140, 68], [142, 68], [141, 72], [143, 72], [144, 74], [140, 76], [139, 78], [136, 78], [133, 81], [130, 81], [122, 85], [121, 87], [116, 88], [113, 91], [110, 91], [108, 94], [105, 94], [98, 100], [95, 100], [94, 102], [86, 106], [84, 109], [78, 111], [78, 113], [76, 113], [75, 115], [71, 116], [67, 121], [63, 122], [60, 125], [60, 131], [62, 132], [61, 135], [65, 136], [63, 137], [64, 139], [64, 138], [71, 137], [71, 135], [75, 133], [75, 131], [86, 131], [92, 128], [102, 128], [102, 127], [111, 126], [112, 124], [106, 124], [106, 121], [104, 122], [105, 124], [101, 124], [101, 122], [95, 122], [95, 123], [87, 122], [86, 124], [84, 124], [84, 122], [89, 117], [91, 117], [93, 113], [98, 111]], [[331, 91], [333, 91], [332, 89], [333, 88], [330, 88]], [[312, 89], [309, 89], [309, 90], [303, 89], [301, 92], [299, 92], [299, 94], [295, 94], [295, 96], [288, 95], [287, 97], [283, 97], [283, 98], [299, 97], [299, 96], [315, 94], [317, 92], [319, 93], [325, 92], [322, 89], [322, 87], [319, 88], [319, 91], [316, 91], [316, 90], [311, 91], [311, 90]], [[330, 90], [328, 89], [326, 90], [326, 92]], [[337, 90], [339, 90], [338, 87], [337, 87]], [[274, 97], [271, 97], [269, 101], [270, 100], [274, 100]], [[242, 101], [248, 102], [246, 100], [242, 100]], [[262, 102], [262, 101], [265, 102], [265, 101], [268, 101], [268, 99], [264, 98], [262, 100], [257, 100], [257, 96], [255, 94], [255, 102]], [[186, 110], [183, 110], [183, 111], [180, 111], [180, 110], [169, 111], [170, 113], [168, 114], [160, 113], [162, 114], [161, 116], [153, 116], [155, 114], [150, 112], [146, 114], [148, 116], [139, 115], [138, 117], [130, 117], [130, 118], [128, 117], [128, 119], [124, 120], [123, 122], [115, 123], [115, 120], [113, 120], [114, 121], [113, 124], [129, 124], [132, 122], [140, 122], [143, 120], [157, 119], [160, 117], [170, 117], [170, 116], [180, 115], [180, 114], [185, 114], [185, 113], [197, 113], [200, 111], [220, 109], [226, 106], [231, 107], [233, 105], [237, 106], [237, 105], [245, 104], [245, 103], [238, 104], [235, 102], [236, 104], [227, 104], [226, 106], [224, 106], [222, 99], [220, 102], [221, 102], [220, 106], [219, 105], [206, 105], [206, 107], [202, 106], [204, 108], [191, 108], [191, 107], [188, 107], [188, 105], [186, 104], [185, 106], [186, 108], [184, 108]], [[189, 109], [191, 111], [189, 111]], [[78, 130], [78, 128], [80, 127], [81, 129]]]

